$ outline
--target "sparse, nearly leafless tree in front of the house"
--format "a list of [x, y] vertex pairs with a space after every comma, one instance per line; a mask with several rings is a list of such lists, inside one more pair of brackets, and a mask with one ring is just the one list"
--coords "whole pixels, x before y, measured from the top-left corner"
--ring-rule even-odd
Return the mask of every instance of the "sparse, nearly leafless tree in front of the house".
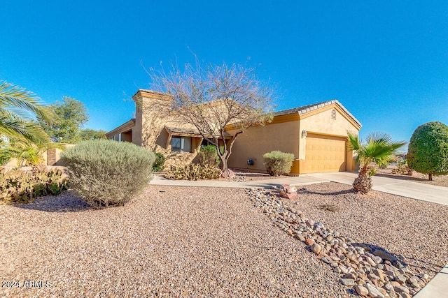
[[[238, 135], [251, 126], [272, 121], [273, 89], [255, 75], [255, 68], [237, 64], [202, 67], [172, 65], [169, 72], [148, 71], [153, 89], [172, 96], [171, 109], [179, 120], [193, 124], [204, 140], [214, 144], [228, 169]], [[227, 131], [226, 131], [227, 128]]]

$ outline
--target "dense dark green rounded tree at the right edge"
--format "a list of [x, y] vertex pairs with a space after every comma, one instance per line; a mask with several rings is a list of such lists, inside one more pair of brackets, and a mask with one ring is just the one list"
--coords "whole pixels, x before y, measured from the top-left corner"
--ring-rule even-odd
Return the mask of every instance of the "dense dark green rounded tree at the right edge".
[[448, 174], [448, 126], [440, 122], [428, 122], [416, 128], [407, 151], [407, 165], [417, 172]]

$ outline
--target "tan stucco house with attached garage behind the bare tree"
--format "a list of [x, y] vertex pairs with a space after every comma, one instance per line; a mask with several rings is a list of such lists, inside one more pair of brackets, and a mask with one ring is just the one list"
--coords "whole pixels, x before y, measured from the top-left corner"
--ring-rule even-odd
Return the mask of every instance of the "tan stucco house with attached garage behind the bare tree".
[[[171, 97], [140, 89], [133, 97], [136, 117], [106, 133], [112, 140], [133, 142], [167, 158], [167, 165], [190, 163], [202, 135], [190, 124], [179, 123], [171, 112]], [[353, 153], [347, 149], [347, 131], [360, 130], [360, 122], [337, 100], [296, 107], [274, 113], [266, 126], [248, 128], [232, 147], [229, 167], [265, 171], [262, 154], [280, 150], [294, 154], [291, 174], [337, 172], [355, 169]], [[228, 136], [235, 133], [226, 127]]]

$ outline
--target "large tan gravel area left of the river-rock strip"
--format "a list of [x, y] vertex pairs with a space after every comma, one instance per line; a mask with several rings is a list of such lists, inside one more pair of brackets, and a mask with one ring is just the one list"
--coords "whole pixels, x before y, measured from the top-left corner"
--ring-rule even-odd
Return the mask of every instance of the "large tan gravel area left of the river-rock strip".
[[0, 276], [20, 282], [0, 296], [351, 296], [242, 189], [150, 186], [103, 210], [65, 193], [0, 206], [0, 227]]

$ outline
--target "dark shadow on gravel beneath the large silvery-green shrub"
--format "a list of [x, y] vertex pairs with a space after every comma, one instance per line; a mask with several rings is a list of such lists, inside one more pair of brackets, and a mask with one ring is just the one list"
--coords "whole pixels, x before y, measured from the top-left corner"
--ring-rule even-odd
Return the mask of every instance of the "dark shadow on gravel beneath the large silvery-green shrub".
[[29, 204], [16, 204], [15, 207], [22, 209], [46, 211], [46, 212], [78, 212], [91, 209], [91, 207], [80, 197], [64, 191], [60, 195], [52, 195], [38, 198]]

